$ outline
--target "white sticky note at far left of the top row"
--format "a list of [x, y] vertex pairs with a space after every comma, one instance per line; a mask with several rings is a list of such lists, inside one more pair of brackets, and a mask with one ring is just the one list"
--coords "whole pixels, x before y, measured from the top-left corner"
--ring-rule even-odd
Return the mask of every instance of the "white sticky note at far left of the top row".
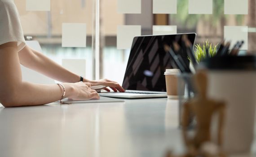
[[27, 11], [50, 11], [51, 0], [26, 0]]

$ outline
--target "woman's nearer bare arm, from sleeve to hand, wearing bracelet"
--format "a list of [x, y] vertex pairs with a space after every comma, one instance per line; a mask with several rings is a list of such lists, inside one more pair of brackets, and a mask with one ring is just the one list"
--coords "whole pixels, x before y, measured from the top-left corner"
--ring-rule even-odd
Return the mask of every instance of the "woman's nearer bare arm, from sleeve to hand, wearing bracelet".
[[[0, 103], [5, 107], [43, 105], [60, 100], [62, 87], [22, 82], [17, 43], [0, 45]], [[99, 98], [86, 83], [63, 83], [66, 96], [73, 99]]]

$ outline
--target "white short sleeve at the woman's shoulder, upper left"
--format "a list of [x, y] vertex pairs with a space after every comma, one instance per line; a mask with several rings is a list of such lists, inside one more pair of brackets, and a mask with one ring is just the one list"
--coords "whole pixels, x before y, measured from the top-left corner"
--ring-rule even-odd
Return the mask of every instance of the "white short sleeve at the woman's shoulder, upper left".
[[25, 47], [19, 13], [13, 0], [0, 0], [0, 45], [8, 42], [17, 42], [18, 51]]

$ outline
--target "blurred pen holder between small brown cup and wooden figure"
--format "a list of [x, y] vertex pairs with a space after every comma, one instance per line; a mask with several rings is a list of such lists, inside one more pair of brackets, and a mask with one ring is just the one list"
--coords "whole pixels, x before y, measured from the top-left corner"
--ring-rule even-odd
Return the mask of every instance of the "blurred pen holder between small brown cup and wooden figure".
[[[181, 116], [183, 104], [194, 97], [194, 74], [181, 73], [178, 76], [178, 103], [179, 103], [179, 126], [181, 126]], [[185, 85], [185, 88], [184, 88]], [[184, 91], [185, 89], [185, 91]], [[184, 93], [184, 94], [182, 94]], [[191, 117], [190, 126], [194, 126], [194, 118]]]

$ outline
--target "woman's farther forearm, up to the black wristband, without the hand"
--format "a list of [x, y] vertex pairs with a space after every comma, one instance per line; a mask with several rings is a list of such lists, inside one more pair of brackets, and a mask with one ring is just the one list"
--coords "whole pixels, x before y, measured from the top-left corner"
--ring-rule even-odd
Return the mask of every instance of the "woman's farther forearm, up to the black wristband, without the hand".
[[40, 72], [52, 79], [56, 79], [61, 82], [75, 83], [79, 82], [80, 76], [66, 70], [61, 65], [52, 61], [42, 53], [37, 52], [29, 47], [25, 47], [19, 52], [19, 58], [22, 65]]

